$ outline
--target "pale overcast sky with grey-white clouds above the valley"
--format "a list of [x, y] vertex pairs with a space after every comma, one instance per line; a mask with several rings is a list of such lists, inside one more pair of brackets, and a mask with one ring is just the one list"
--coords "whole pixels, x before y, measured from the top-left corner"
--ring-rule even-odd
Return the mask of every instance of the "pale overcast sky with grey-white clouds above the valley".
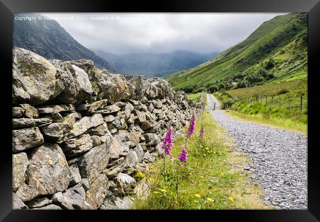
[[286, 13], [42, 13], [58, 16], [55, 20], [85, 47], [114, 54], [221, 52], [280, 14]]

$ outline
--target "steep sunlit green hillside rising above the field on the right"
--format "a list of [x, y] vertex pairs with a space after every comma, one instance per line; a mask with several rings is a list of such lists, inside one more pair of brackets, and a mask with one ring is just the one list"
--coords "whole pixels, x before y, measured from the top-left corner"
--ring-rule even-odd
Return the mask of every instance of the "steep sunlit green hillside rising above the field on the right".
[[212, 85], [220, 90], [307, 78], [307, 21], [307, 13], [276, 16], [212, 60], [166, 80], [175, 89], [194, 91]]

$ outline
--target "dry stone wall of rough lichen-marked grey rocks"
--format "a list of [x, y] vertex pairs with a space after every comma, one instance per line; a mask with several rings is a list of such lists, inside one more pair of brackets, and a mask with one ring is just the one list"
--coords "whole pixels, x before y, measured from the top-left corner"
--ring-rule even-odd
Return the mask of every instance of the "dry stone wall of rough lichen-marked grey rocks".
[[[13, 48], [13, 209], [128, 209], [148, 185], [171, 121], [181, 136], [202, 102], [160, 78]], [[203, 96], [201, 97], [203, 99]]]

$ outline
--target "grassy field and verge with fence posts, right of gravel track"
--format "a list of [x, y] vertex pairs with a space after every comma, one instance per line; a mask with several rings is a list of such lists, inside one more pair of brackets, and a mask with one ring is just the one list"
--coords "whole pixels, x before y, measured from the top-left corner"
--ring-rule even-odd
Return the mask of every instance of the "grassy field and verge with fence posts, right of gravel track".
[[[233, 118], [293, 130], [303, 134], [307, 133], [307, 79], [227, 90], [224, 95], [221, 92], [215, 92], [213, 95], [221, 103], [240, 100], [225, 112]], [[259, 96], [258, 102], [255, 102], [256, 95]], [[263, 95], [262, 103], [261, 95]], [[267, 96], [267, 104], [265, 103], [265, 96]], [[300, 111], [301, 96], [302, 111]], [[290, 111], [288, 110], [289, 98]], [[293, 116], [293, 111], [296, 116]]]

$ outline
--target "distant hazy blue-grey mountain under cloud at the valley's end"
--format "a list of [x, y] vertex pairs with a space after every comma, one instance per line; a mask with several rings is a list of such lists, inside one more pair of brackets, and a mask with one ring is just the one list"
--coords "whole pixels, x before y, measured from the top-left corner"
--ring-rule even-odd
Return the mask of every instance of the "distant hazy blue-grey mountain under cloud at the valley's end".
[[95, 50], [101, 58], [109, 61], [119, 72], [127, 75], [143, 74], [148, 76], [167, 77], [181, 70], [190, 69], [204, 63], [218, 54], [199, 54], [189, 51], [172, 53], [130, 53], [115, 55]]

